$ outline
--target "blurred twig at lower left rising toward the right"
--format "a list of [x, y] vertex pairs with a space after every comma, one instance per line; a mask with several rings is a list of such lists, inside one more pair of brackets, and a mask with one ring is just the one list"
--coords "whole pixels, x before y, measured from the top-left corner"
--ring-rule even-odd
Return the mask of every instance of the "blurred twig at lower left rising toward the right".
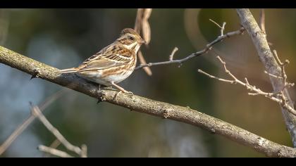
[[[44, 103], [40, 105], [41, 110], [44, 110], [51, 104], [52, 102], [56, 101], [63, 93], [65, 93], [66, 89], [62, 89], [55, 94], [49, 96], [47, 99], [44, 100]], [[21, 125], [19, 125], [15, 131], [4, 141], [4, 143], [0, 146], [0, 155], [6, 151], [6, 149], [11, 146], [14, 140], [35, 120], [34, 115], [30, 115], [30, 117], [25, 120]]]

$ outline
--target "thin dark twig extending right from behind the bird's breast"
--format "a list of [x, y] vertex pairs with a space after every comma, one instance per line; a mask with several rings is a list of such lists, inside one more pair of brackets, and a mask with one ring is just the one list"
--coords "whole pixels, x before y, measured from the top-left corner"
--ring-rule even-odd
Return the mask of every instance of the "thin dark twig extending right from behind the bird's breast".
[[[223, 24], [223, 26], [225, 26], [225, 24]], [[219, 27], [220, 27], [220, 25], [219, 25]], [[137, 66], [137, 68], [135, 68], [135, 70], [140, 69], [140, 68], [144, 68], [147, 66], [150, 67], [153, 65], [168, 65], [168, 64], [173, 64], [173, 63], [178, 63], [180, 66], [183, 62], [190, 60], [191, 58], [195, 58], [195, 57], [200, 56], [204, 53], [207, 53], [209, 50], [211, 50], [212, 46], [217, 44], [219, 41], [222, 41], [223, 39], [226, 39], [228, 37], [233, 37], [235, 35], [242, 34], [244, 31], [245, 31], [245, 29], [243, 27], [241, 27], [240, 30], [228, 32], [226, 34], [223, 34], [222, 36], [218, 36], [216, 39], [214, 39], [214, 41], [211, 41], [211, 43], [207, 44], [206, 47], [204, 49], [202, 49], [202, 51], [191, 53], [189, 56], [187, 56], [185, 58], [181, 58], [178, 60], [167, 60], [167, 61], [157, 62], [157, 63], [140, 64], [139, 66]]]

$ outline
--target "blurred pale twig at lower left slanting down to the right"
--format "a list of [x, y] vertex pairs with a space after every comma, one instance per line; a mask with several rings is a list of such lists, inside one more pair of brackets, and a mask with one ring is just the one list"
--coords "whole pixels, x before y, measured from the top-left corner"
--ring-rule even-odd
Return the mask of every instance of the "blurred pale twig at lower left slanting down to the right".
[[39, 107], [32, 106], [32, 103], [31, 103], [31, 113], [35, 117], [38, 117], [38, 119], [43, 123], [43, 125], [47, 127], [47, 129], [52, 134], [54, 134], [54, 136], [56, 136], [56, 139], [58, 139], [58, 141], [60, 141], [63, 144], [63, 146], [65, 146], [69, 151], [73, 151], [78, 155], [82, 156], [81, 148], [79, 148], [78, 146], [73, 146], [73, 144], [71, 144], [67, 139], [65, 139], [65, 137], [61, 134], [61, 132], [58, 132], [58, 129], [56, 129], [53, 125], [51, 125], [49, 120], [47, 120], [47, 118], [42, 114], [41, 110], [39, 110]]

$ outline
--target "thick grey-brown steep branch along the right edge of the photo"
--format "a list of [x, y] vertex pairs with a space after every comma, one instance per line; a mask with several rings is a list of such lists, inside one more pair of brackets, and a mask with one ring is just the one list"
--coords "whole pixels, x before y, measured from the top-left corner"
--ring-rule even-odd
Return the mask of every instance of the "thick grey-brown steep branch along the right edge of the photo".
[[[273, 53], [271, 52], [269, 44], [266, 40], [265, 32], [260, 29], [252, 13], [249, 11], [249, 9], [245, 8], [240, 8], [236, 11], [240, 17], [242, 26], [245, 27], [249, 33], [249, 36], [252, 38], [261, 63], [264, 64], [266, 72], [271, 75], [281, 75], [283, 73], [281, 65], [276, 62], [276, 58], [273, 56]], [[269, 75], [269, 78], [271, 80], [273, 91], [281, 91], [284, 89], [285, 82], [283, 78], [272, 77], [271, 75]], [[291, 100], [287, 89], [284, 89], [283, 96], [285, 96], [285, 99], [288, 101], [288, 106], [294, 108], [293, 101]], [[283, 106], [281, 106], [281, 110], [285, 119], [285, 125], [292, 136], [293, 146], [296, 147], [296, 116], [292, 115], [292, 113], [290, 113], [288, 109]]]

